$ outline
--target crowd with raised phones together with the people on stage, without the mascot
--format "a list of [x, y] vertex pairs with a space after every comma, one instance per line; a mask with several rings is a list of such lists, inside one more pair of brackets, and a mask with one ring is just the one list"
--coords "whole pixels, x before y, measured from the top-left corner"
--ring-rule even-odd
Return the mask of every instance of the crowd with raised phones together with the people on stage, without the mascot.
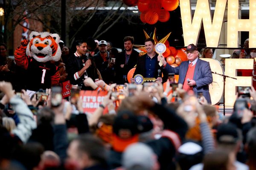
[[[29, 85], [13, 81], [26, 71], [0, 44], [0, 169], [256, 169], [253, 87], [238, 95], [231, 116], [223, 116], [211, 105], [212, 72], [196, 45], [188, 45], [188, 61], [173, 68], [155, 52], [153, 39], [145, 40], [143, 56], [133, 48], [134, 37], [123, 43], [119, 53], [111, 42], [91, 37], [77, 40], [75, 51], [61, 42], [61, 60], [52, 63], [59, 85], [69, 80], [72, 90], [59, 102], [53, 87], [29, 96]], [[138, 74], [154, 82], [141, 85], [134, 79]], [[177, 82], [170, 78], [174, 74]], [[74, 95], [79, 90], [107, 95], [86, 113]]]

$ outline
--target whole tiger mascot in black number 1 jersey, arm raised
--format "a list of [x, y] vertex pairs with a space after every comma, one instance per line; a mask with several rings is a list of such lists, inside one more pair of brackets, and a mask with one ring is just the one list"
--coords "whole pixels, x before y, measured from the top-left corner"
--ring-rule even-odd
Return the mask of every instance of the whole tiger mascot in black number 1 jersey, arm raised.
[[26, 88], [29, 96], [39, 89], [58, 85], [60, 75], [57, 67], [50, 61], [61, 58], [58, 34], [32, 31], [28, 40], [22, 40], [15, 50], [15, 62], [27, 70]]

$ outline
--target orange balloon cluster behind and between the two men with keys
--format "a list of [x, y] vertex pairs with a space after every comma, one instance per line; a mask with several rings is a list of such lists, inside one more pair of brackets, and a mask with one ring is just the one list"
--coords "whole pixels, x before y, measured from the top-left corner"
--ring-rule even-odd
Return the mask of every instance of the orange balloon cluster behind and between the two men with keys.
[[169, 46], [168, 40], [164, 44], [166, 45], [166, 51], [163, 53], [163, 57], [165, 57], [169, 65], [177, 67], [181, 62], [188, 60], [184, 49], [176, 49], [175, 47]]

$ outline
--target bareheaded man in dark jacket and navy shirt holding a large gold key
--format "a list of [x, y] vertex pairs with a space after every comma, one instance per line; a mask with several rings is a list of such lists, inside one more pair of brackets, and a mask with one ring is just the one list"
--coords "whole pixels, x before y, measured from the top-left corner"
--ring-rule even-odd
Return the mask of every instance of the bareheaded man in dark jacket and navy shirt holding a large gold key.
[[[137, 66], [134, 71], [134, 75], [131, 78], [131, 82], [134, 83], [134, 76], [141, 74], [144, 78], [156, 78], [156, 82], [166, 82], [168, 73], [163, 71], [163, 66], [160, 66], [157, 61], [157, 53], [154, 51], [155, 42], [152, 38], [145, 40], [145, 48], [147, 54], [138, 58]], [[158, 72], [160, 70], [160, 72]], [[163, 73], [163, 78], [162, 78]]]

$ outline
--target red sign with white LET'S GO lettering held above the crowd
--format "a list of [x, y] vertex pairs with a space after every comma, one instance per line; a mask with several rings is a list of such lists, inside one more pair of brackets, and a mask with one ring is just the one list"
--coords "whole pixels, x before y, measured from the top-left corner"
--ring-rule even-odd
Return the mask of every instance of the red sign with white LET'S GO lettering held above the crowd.
[[108, 91], [80, 91], [84, 113], [93, 113], [102, 103]]

